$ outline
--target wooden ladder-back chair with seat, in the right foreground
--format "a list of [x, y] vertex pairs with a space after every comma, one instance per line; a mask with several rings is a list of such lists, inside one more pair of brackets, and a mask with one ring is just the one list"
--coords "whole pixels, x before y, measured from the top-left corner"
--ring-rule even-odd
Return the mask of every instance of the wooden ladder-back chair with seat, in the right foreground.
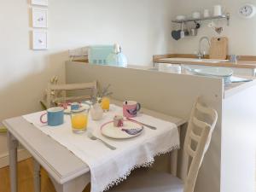
[[[211, 123], [198, 117], [209, 117]], [[218, 113], [211, 108], [195, 102], [189, 119], [183, 145], [183, 179], [166, 172], [156, 172], [152, 169], [139, 169], [111, 192], [193, 192], [203, 157], [211, 142], [212, 131], [217, 123]], [[210, 173], [209, 173], [210, 174]]]

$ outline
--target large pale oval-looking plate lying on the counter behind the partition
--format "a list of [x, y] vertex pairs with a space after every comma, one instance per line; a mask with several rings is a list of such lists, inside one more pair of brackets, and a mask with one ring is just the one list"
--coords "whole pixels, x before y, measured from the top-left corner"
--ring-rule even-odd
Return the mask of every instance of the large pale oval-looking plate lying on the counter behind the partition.
[[206, 76], [216, 76], [216, 77], [230, 77], [233, 75], [233, 70], [224, 67], [206, 67], [201, 69], [192, 69], [194, 73], [206, 75]]

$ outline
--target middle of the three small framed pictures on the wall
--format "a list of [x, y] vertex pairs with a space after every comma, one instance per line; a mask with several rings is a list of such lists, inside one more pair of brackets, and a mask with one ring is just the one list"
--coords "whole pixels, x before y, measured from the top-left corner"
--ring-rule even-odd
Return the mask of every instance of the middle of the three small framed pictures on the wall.
[[35, 27], [35, 28], [48, 27], [48, 10], [32, 9], [32, 27]]

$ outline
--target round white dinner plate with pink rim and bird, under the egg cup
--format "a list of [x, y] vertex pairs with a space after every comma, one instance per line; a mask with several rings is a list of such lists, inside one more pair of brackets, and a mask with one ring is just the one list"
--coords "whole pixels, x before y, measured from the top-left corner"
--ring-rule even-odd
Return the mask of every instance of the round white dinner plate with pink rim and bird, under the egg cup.
[[130, 129], [137, 129], [137, 128], [143, 129], [143, 125], [140, 125], [131, 120], [124, 120], [124, 126], [115, 127], [113, 126], [113, 121], [110, 121], [102, 125], [101, 132], [102, 132], [102, 135], [106, 137], [110, 137], [114, 139], [128, 139], [128, 138], [139, 136], [140, 134], [142, 134], [143, 131], [140, 131], [139, 133], [137, 133], [137, 135], [130, 135], [125, 131], [122, 131], [122, 129], [130, 130]]

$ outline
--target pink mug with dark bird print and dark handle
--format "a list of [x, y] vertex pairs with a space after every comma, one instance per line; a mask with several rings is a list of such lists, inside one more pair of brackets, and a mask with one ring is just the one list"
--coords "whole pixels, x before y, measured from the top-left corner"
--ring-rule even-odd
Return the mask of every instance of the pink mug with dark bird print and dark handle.
[[123, 102], [123, 114], [126, 118], [133, 118], [137, 116], [137, 112], [141, 110], [141, 104], [134, 101]]

